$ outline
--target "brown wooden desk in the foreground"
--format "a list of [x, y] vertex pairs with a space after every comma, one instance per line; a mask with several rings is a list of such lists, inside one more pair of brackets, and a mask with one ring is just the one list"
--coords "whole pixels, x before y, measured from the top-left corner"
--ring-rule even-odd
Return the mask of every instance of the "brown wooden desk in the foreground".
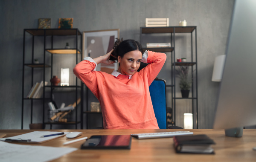
[[[35, 130], [0, 130], [6, 133], [6, 137], [17, 136]], [[40, 130], [36, 130], [40, 131]], [[42, 131], [79, 131], [80, 136], [90, 137], [92, 135], [128, 135], [131, 133], [166, 132], [180, 130], [42, 130]], [[175, 153], [172, 138], [162, 139], [135, 139], [132, 138], [131, 150], [81, 150], [83, 143], [76, 142], [69, 145], [62, 145], [72, 139], [65, 136], [44, 142], [42, 146], [73, 147], [79, 150], [62, 156], [53, 162], [255, 162], [256, 151], [256, 129], [244, 129], [243, 137], [234, 138], [224, 135], [224, 130], [190, 130], [194, 134], [207, 134], [216, 142], [212, 145], [215, 155], [204, 154], [178, 154]], [[28, 144], [22, 144], [28, 145]], [[39, 145], [39, 144], [30, 144]]]

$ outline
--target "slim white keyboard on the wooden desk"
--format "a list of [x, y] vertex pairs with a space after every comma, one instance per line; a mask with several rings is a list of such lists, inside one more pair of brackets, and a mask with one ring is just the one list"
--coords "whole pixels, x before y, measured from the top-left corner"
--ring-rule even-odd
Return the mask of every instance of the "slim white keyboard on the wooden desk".
[[189, 131], [178, 131], [178, 132], [157, 132], [157, 133], [138, 133], [131, 134], [131, 136], [136, 137], [137, 139], [154, 139], [154, 138], [165, 138], [165, 137], [173, 137], [180, 135], [192, 135], [193, 132]]

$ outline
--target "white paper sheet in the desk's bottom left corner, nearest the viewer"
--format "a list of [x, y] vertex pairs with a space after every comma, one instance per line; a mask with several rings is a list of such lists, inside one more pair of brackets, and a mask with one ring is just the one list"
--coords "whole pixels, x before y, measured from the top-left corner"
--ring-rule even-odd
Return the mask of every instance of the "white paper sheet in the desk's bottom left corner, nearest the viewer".
[[77, 148], [18, 145], [0, 141], [0, 162], [48, 162]]

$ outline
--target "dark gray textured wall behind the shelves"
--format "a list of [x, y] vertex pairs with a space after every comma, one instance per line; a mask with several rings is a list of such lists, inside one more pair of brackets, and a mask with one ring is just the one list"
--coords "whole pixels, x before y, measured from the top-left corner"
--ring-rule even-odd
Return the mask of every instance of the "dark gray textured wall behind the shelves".
[[[0, 129], [20, 129], [23, 29], [37, 28], [38, 18], [51, 18], [51, 28], [58, 28], [60, 17], [73, 17], [73, 28], [81, 32], [120, 29], [121, 38], [135, 40], [140, 40], [140, 27], [145, 26], [145, 18], [169, 17], [170, 26], [178, 26], [180, 20], [186, 19], [188, 26], [197, 26], [198, 122], [201, 129], [212, 128], [219, 87], [218, 82], [211, 81], [213, 63], [216, 56], [225, 52], [232, 9], [233, 0], [0, 0]], [[189, 58], [190, 37], [178, 35], [177, 38], [177, 57]], [[26, 40], [30, 41], [31, 37]], [[55, 48], [64, 46], [65, 41], [59, 39]], [[71, 46], [74, 45], [72, 38], [69, 42]], [[42, 59], [42, 43], [42, 39], [35, 42], [35, 53], [39, 59]], [[29, 47], [26, 46], [27, 49]], [[168, 58], [158, 78], [164, 78], [168, 83], [171, 65], [170, 54], [166, 54]], [[55, 63], [67, 60], [72, 62], [73, 59], [64, 57]], [[26, 61], [29, 60], [26, 58]], [[61, 67], [61, 63], [58, 66]], [[41, 73], [37, 75], [41, 76]], [[25, 72], [26, 81], [30, 80], [29, 77], [29, 72]], [[30, 84], [25, 85], [26, 89], [30, 88]], [[66, 95], [60, 98], [73, 101]], [[27, 105], [25, 129], [28, 129], [30, 123]], [[182, 114], [188, 112], [190, 106], [189, 101], [177, 102], [177, 125], [183, 126]], [[33, 122], [40, 122], [41, 111], [35, 108], [33, 117]]]

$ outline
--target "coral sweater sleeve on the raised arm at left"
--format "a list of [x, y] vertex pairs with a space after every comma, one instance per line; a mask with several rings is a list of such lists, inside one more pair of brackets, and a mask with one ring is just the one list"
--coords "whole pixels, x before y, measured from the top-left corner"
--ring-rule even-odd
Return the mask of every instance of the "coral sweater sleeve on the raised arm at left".
[[98, 98], [96, 64], [94, 62], [84, 60], [74, 67], [73, 72]]

